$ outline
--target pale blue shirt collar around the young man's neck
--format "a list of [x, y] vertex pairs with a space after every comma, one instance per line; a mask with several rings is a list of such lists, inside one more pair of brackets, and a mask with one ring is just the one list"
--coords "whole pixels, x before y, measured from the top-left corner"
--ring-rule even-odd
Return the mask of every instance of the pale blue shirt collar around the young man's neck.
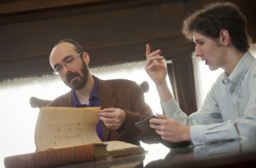
[[236, 65], [235, 69], [230, 73], [230, 76], [224, 72], [223, 82], [227, 83], [229, 81], [240, 84], [241, 80], [244, 77], [244, 74], [247, 72], [248, 67], [253, 61], [254, 57], [250, 51], [247, 51], [242, 57], [241, 60]]

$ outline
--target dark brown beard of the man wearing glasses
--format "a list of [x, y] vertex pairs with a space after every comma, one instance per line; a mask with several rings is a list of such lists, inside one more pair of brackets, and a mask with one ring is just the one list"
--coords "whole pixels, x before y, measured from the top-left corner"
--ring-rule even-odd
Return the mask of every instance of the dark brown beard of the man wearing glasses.
[[[89, 78], [89, 70], [84, 61], [82, 61], [82, 74], [79, 72], [69, 72], [66, 75], [64, 83], [72, 90], [81, 90], [87, 84]], [[73, 79], [76, 78], [76, 79]]]

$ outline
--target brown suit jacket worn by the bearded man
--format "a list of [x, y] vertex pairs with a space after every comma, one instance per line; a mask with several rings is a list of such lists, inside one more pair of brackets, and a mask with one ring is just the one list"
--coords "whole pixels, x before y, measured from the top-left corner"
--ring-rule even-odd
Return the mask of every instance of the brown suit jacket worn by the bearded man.
[[[143, 133], [134, 124], [152, 115], [150, 107], [144, 102], [142, 88], [126, 79], [99, 79], [99, 99], [101, 108], [116, 107], [125, 110], [126, 123], [121, 130], [110, 130], [103, 125], [105, 141], [123, 141], [139, 145]], [[73, 107], [71, 91], [50, 101], [49, 107]]]

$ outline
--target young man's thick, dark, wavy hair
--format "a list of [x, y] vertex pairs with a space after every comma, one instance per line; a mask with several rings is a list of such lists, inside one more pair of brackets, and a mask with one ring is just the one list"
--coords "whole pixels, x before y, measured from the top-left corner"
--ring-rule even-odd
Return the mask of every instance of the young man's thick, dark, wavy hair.
[[226, 29], [230, 33], [231, 43], [245, 52], [251, 42], [246, 27], [247, 19], [234, 3], [209, 3], [183, 21], [183, 35], [192, 40], [193, 32], [199, 32], [216, 39], [219, 32]]

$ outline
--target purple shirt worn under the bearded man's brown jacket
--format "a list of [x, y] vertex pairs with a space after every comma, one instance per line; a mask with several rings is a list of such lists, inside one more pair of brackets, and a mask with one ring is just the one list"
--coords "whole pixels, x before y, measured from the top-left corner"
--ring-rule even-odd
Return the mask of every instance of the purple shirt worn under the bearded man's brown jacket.
[[[78, 96], [74, 90], [72, 90], [72, 99], [73, 99], [73, 107], [99, 107], [100, 99], [99, 99], [99, 87], [98, 87], [98, 78], [94, 77], [95, 83], [90, 94], [89, 104], [80, 104]], [[102, 121], [100, 120], [96, 125], [96, 132], [99, 138], [104, 141], [103, 138], [103, 130], [102, 130]]]

